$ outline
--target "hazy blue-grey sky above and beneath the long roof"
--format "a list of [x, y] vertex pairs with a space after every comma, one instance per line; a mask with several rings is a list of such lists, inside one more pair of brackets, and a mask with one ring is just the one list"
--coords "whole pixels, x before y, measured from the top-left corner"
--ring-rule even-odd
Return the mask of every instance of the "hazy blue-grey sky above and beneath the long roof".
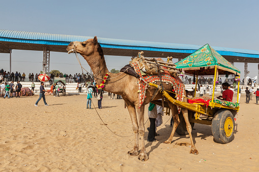
[[[259, 1], [2, 1], [0, 29], [259, 50]], [[88, 69], [87, 62], [80, 57]], [[130, 57], [105, 56], [108, 70]], [[39, 73], [42, 51], [13, 50], [12, 71]], [[244, 75], [244, 64], [235, 63]], [[0, 53], [9, 71], [9, 54]], [[50, 70], [81, 72], [74, 54], [50, 52]], [[257, 64], [249, 63], [249, 76]]]

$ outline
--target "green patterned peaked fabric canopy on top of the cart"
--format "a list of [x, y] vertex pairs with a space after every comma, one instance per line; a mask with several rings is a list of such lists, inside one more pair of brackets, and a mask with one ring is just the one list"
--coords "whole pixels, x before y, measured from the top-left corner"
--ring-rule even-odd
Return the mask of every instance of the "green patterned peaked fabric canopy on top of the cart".
[[188, 57], [176, 63], [177, 68], [181, 68], [185, 73], [195, 75], [214, 75], [214, 67], [217, 66], [218, 74], [236, 74], [240, 76], [240, 71], [233, 64], [229, 63], [209, 44], [198, 49]]

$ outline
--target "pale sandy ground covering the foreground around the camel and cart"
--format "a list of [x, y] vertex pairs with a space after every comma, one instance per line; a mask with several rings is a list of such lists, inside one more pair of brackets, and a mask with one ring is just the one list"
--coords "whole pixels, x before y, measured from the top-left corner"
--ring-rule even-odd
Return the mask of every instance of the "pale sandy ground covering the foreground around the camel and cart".
[[[37, 99], [37, 95], [0, 99], [0, 171], [259, 171], [259, 106], [255, 97], [245, 104], [245, 96], [241, 96], [231, 143], [217, 144], [211, 126], [194, 125], [198, 155], [189, 154], [188, 135], [175, 134], [171, 144], [163, 144], [172, 129], [170, 117], [164, 116], [165, 125], [158, 127], [158, 142], [146, 142], [146, 162], [127, 154], [134, 136], [123, 99], [104, 95], [103, 109], [97, 111], [112, 131], [130, 137], [114, 135], [95, 109], [85, 109], [86, 95], [46, 96], [49, 107], [43, 100], [35, 107]], [[97, 106], [96, 98], [93, 102]]]

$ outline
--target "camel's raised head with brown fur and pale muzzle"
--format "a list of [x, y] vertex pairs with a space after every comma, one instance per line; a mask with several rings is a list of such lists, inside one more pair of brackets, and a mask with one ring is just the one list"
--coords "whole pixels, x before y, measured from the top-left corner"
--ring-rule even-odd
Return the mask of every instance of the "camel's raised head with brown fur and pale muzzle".
[[95, 36], [94, 39], [89, 39], [84, 42], [78, 42], [78, 41], [71, 42], [67, 47], [67, 51], [68, 51], [68, 54], [76, 51], [77, 53], [83, 56], [90, 56], [95, 51], [99, 51], [99, 47], [101, 48], [100, 44], [97, 41], [97, 37]]

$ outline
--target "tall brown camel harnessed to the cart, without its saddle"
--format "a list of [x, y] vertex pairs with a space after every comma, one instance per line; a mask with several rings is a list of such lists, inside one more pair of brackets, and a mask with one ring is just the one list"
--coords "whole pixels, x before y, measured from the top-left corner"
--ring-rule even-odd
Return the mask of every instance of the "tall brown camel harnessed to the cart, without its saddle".
[[[71, 42], [67, 47], [68, 53], [76, 51], [79, 53], [85, 60], [87, 60], [88, 64], [90, 65], [96, 83], [99, 85], [103, 81], [103, 78], [108, 73], [108, 79], [105, 82], [105, 86], [102, 88], [104, 91], [112, 92], [115, 94], [122, 95], [122, 98], [125, 100], [125, 104], [127, 106], [127, 109], [129, 111], [133, 132], [135, 135], [135, 144], [131, 151], [128, 152], [131, 156], [138, 156], [138, 159], [141, 161], [147, 161], [149, 159], [146, 151], [146, 145], [144, 140], [144, 134], [145, 134], [145, 126], [144, 126], [144, 110], [145, 105], [149, 104], [150, 100], [152, 99], [152, 96], [155, 94], [156, 88], [155, 87], [148, 87], [146, 90], [146, 97], [142, 104], [142, 106], [139, 108], [139, 101], [138, 101], [138, 84], [137, 84], [137, 78], [127, 75], [125, 73], [118, 73], [118, 74], [112, 74], [109, 73], [102, 48], [100, 44], [98, 43], [97, 37], [94, 37], [94, 39], [89, 39], [84, 42]], [[116, 78], [115, 78], [116, 77]], [[165, 90], [172, 90], [171, 84], [165, 84], [163, 83], [163, 87]], [[185, 90], [185, 89], [184, 89]], [[185, 94], [185, 91], [184, 91]], [[155, 100], [163, 98], [162, 93], [158, 93], [155, 97]], [[187, 102], [187, 99], [184, 98], [184, 101]], [[168, 101], [168, 106], [171, 109], [172, 117], [174, 118], [174, 127], [172, 128], [172, 132], [165, 141], [165, 144], [171, 144], [172, 137], [175, 134], [176, 128], [178, 124], [180, 123], [177, 107], [173, 105], [171, 102]], [[184, 108], [181, 109], [184, 119], [186, 121], [186, 128], [188, 130], [190, 140], [191, 140], [191, 151], [192, 154], [198, 154], [197, 149], [194, 146], [192, 135], [191, 135], [191, 125], [188, 119], [188, 111]], [[138, 134], [140, 135], [141, 141], [142, 141], [142, 147], [140, 152], [139, 151], [139, 145], [138, 145]]]

